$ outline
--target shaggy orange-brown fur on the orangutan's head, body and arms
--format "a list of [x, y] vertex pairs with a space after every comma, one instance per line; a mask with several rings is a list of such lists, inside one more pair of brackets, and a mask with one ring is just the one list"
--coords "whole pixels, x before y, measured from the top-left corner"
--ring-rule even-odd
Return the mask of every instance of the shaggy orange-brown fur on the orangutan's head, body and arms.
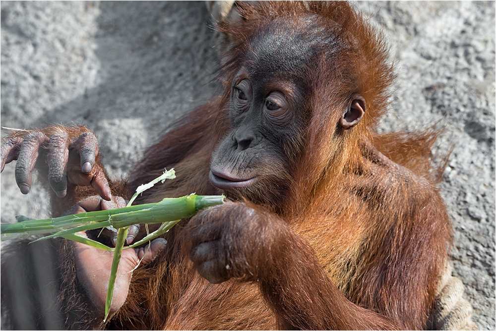
[[[210, 157], [231, 126], [232, 79], [252, 51], [253, 39], [272, 22], [295, 22], [294, 29], [301, 31], [308, 18], [338, 45], [347, 46], [333, 57], [323, 50], [317, 63], [308, 64], [310, 122], [301, 137], [294, 137], [301, 153], [288, 160], [292, 170], [281, 174], [289, 189], [272, 195], [259, 187], [262, 201], [256, 205], [249, 197], [231, 197], [238, 200], [232, 206], [255, 209], [269, 227], [284, 220], [287, 228], [273, 231], [290, 239], [266, 260], [259, 260], [254, 249], [247, 253], [257, 261], [257, 279], [210, 284], [185, 255], [182, 238], [188, 223], [180, 222], [165, 235], [168, 244], [160, 256], [134, 272], [124, 306], [100, 327], [425, 328], [450, 240], [448, 216], [430, 175], [437, 133], [375, 133], [394, 79], [382, 36], [345, 2], [241, 4], [240, 11], [242, 22], [219, 26], [230, 47], [219, 76], [224, 95], [176, 123], [145, 152], [128, 186], [114, 194], [127, 195], [164, 167], [174, 167], [178, 178], [145, 192], [139, 203], [191, 192], [222, 193], [209, 182], [208, 173]], [[356, 127], [344, 130], [336, 123], [350, 91], [363, 96], [367, 110]], [[58, 206], [56, 213], [69, 205]], [[260, 249], [268, 245], [264, 240], [272, 240], [257, 228], [248, 230], [260, 235], [254, 239]], [[77, 282], [67, 267], [72, 263], [70, 245], [55, 245], [63, 246], [59, 249], [66, 264], [61, 267], [61, 302], [67, 311], [78, 312], [74, 327], [94, 323], [84, 308], [84, 295], [70, 290]]]

